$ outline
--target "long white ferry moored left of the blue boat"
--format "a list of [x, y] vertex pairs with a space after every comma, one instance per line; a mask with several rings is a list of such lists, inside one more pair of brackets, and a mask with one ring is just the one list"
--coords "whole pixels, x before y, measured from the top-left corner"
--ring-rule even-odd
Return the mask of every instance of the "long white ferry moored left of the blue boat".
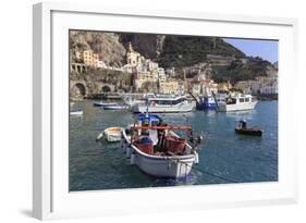
[[182, 96], [158, 96], [148, 98], [146, 103], [136, 103], [132, 107], [134, 113], [176, 113], [191, 112], [193, 109], [193, 103]]

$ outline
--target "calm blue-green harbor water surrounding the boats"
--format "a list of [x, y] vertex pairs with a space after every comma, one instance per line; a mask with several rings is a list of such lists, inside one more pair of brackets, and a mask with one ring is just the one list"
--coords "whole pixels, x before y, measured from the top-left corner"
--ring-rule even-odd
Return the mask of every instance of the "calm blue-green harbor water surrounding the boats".
[[[169, 124], [188, 124], [194, 133], [208, 133], [199, 164], [184, 179], [148, 176], [128, 165], [120, 143], [96, 143], [106, 127], [133, 123], [131, 112], [106, 111], [93, 107], [93, 101], [76, 102], [74, 107], [82, 108], [84, 114], [70, 117], [71, 191], [278, 181], [278, 101], [260, 101], [247, 112], [161, 114]], [[262, 128], [262, 137], [235, 134], [241, 119]]]

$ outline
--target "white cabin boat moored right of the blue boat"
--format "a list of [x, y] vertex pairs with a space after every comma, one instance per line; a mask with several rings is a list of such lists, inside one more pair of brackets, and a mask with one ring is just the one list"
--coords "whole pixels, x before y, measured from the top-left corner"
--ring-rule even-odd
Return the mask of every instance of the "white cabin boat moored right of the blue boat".
[[253, 110], [256, 104], [257, 100], [252, 95], [237, 94], [218, 102], [217, 110], [222, 112]]

